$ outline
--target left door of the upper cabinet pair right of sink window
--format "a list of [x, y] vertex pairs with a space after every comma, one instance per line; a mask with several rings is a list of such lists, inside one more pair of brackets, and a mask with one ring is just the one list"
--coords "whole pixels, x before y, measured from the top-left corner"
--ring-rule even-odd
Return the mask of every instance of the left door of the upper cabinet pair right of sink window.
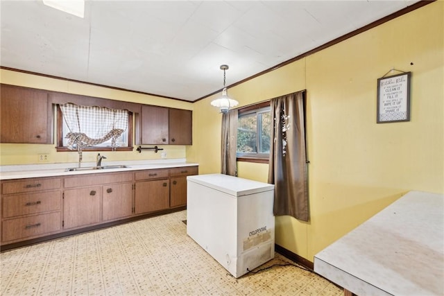
[[142, 144], [167, 145], [168, 108], [142, 105]]

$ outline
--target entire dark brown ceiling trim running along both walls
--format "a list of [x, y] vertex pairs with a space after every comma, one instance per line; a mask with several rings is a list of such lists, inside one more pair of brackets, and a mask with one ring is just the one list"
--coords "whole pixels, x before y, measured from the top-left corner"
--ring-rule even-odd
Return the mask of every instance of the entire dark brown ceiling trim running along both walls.
[[[393, 12], [391, 15], [387, 15], [386, 17], [382, 17], [381, 19], [378, 19], [377, 21], [373, 21], [372, 23], [370, 23], [370, 24], [368, 24], [366, 26], [363, 26], [361, 28], [358, 28], [355, 31], [352, 31], [352, 32], [350, 32], [348, 34], [345, 34], [345, 35], [341, 36], [341, 37], [338, 37], [338, 38], [336, 38], [336, 39], [334, 39], [334, 40], [332, 40], [330, 42], [327, 42], [327, 43], [325, 43], [325, 44], [323, 44], [321, 46], [316, 47], [315, 49], [311, 49], [311, 51], [307, 51], [305, 53], [302, 53], [302, 54], [296, 56], [295, 58], [291, 58], [290, 60], [287, 60], [287, 61], [282, 62], [280, 64], [277, 64], [277, 65], [275, 65], [275, 66], [273, 66], [273, 67], [271, 67], [269, 69], [266, 69], [264, 71], [256, 73], [255, 75], [250, 76], [248, 78], [245, 78], [244, 80], [240, 80], [238, 82], [233, 83], [232, 85], [228, 85], [227, 88], [240, 85], [240, 84], [242, 84], [242, 83], [244, 83], [244, 82], [246, 82], [248, 80], [252, 80], [253, 78], [257, 78], [258, 76], [262, 76], [265, 73], [274, 71], [275, 69], [279, 69], [280, 67], [284, 67], [285, 65], [291, 64], [292, 62], [296, 62], [297, 60], [300, 60], [302, 58], [307, 57], [308, 55], [312, 55], [312, 54], [314, 54], [314, 53], [316, 53], [318, 51], [322, 51], [323, 49], [327, 49], [328, 47], [333, 46], [334, 44], [338, 44], [339, 42], [342, 42], [344, 40], [349, 39], [350, 37], [354, 37], [355, 35], [359, 35], [360, 33], [363, 33], [365, 31], [370, 30], [371, 28], [375, 28], [375, 27], [377, 27], [377, 26], [379, 26], [381, 24], [386, 23], [387, 21], [391, 21], [392, 19], [395, 19], [397, 17], [405, 15], [405, 14], [407, 14], [407, 13], [413, 11], [413, 10], [421, 8], [422, 6], [426, 6], [427, 4], [432, 3], [434, 1], [436, 1], [436, 0], [421, 0], [421, 1], [418, 1], [416, 3], [413, 3], [411, 6], [407, 6], [406, 8], [402, 8], [401, 10], [398, 10], [397, 12]], [[85, 82], [85, 81], [81, 81], [81, 80], [69, 79], [69, 78], [64, 78], [64, 77], [59, 77], [59, 76], [52, 76], [52, 75], [43, 74], [43, 73], [37, 73], [37, 72], [33, 72], [33, 71], [26, 71], [26, 70], [22, 70], [22, 69], [15, 69], [15, 68], [10, 68], [10, 67], [3, 67], [3, 66], [0, 66], [0, 69], [5, 69], [5, 70], [9, 70], [9, 71], [16, 71], [16, 72], [20, 72], [20, 73], [27, 73], [27, 74], [31, 74], [31, 75], [35, 75], [35, 76], [43, 76], [43, 77], [47, 77], [47, 78], [54, 78], [54, 79], [59, 79], [59, 80], [71, 81], [71, 82], [79, 82], [79, 83], [84, 83], [84, 84], [87, 84], [87, 85], [94, 85], [94, 86], [98, 86], [98, 87], [106, 87], [106, 88], [109, 88], [109, 89], [116, 89], [116, 90], [121, 90], [121, 91], [124, 91], [124, 92], [133, 92], [133, 93], [136, 93], [136, 94], [144, 94], [144, 95], [148, 95], [148, 96], [157, 96], [157, 97], [160, 97], [160, 98], [169, 98], [171, 100], [183, 101], [183, 102], [187, 102], [187, 103], [196, 103], [196, 102], [198, 102], [200, 100], [203, 100], [204, 98], [208, 98], [209, 96], [213, 96], [214, 94], [217, 94], [217, 93], [222, 91], [222, 89], [219, 89], [216, 92], [212, 92], [211, 94], [207, 94], [206, 96], [198, 98], [196, 101], [187, 101], [187, 100], [184, 100], [182, 98], [173, 98], [173, 97], [170, 97], [170, 96], [162, 96], [162, 95], [159, 95], [159, 94], [150, 94], [150, 93], [147, 93], [147, 92], [139, 92], [139, 91], [135, 91], [135, 90], [132, 90], [132, 89], [123, 89], [123, 88], [120, 88], [120, 87], [112, 87], [110, 85], [101, 85], [101, 84], [97, 84], [97, 83], [93, 83], [93, 82]]]

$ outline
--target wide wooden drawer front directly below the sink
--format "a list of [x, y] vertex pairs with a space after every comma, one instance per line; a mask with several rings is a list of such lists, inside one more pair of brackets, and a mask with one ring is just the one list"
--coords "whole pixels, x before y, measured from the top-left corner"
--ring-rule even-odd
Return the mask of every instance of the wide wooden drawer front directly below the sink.
[[65, 178], [65, 188], [133, 181], [133, 173], [99, 173]]

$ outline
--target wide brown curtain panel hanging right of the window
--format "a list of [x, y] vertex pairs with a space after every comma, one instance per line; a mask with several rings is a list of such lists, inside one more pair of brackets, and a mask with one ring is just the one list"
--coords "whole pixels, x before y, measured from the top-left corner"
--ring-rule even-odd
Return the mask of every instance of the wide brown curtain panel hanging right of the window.
[[268, 183], [275, 184], [274, 214], [309, 220], [307, 158], [305, 152], [305, 91], [271, 100]]

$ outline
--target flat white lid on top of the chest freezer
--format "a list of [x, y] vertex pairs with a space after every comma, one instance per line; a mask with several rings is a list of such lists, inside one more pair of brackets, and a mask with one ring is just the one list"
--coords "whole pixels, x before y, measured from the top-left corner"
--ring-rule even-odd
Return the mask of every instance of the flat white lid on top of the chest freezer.
[[236, 197], [275, 189], [273, 184], [223, 174], [187, 176], [187, 180]]

